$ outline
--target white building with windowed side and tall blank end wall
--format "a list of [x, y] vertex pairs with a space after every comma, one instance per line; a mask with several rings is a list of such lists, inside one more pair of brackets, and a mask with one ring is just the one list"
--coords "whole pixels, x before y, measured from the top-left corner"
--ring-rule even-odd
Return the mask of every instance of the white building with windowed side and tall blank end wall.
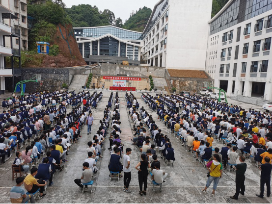
[[149, 66], [205, 70], [212, 0], [160, 0], [143, 32]]

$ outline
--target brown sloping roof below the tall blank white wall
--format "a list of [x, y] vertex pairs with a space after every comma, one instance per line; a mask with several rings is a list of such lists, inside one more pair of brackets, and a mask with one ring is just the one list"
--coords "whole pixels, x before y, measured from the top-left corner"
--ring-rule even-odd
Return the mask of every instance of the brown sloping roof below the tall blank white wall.
[[167, 70], [170, 77], [178, 78], [210, 78], [205, 71], [195, 70]]

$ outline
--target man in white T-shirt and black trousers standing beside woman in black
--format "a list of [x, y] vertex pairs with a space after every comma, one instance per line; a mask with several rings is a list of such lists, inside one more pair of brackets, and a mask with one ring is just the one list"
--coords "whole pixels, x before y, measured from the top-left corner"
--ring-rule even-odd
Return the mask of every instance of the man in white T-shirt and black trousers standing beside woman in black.
[[123, 172], [124, 172], [124, 192], [125, 193], [131, 193], [129, 190], [130, 186], [130, 181], [131, 181], [131, 169], [130, 169], [130, 154], [132, 152], [132, 149], [127, 148], [126, 149], [126, 155], [124, 155], [124, 167], [123, 167]]

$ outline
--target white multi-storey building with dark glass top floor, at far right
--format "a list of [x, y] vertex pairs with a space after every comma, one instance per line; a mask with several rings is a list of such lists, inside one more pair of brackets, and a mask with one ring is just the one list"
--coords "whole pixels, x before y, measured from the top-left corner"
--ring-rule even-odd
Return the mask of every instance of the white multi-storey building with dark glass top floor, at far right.
[[272, 1], [229, 0], [209, 24], [206, 72], [215, 87], [272, 100]]

